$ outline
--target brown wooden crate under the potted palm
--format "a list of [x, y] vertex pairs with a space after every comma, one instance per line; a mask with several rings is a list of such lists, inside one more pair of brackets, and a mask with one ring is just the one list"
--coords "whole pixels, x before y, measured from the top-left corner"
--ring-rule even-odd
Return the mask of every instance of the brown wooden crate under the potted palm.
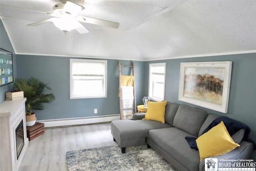
[[29, 141], [42, 134], [44, 134], [44, 123], [36, 122], [33, 126], [27, 126], [27, 138]]

